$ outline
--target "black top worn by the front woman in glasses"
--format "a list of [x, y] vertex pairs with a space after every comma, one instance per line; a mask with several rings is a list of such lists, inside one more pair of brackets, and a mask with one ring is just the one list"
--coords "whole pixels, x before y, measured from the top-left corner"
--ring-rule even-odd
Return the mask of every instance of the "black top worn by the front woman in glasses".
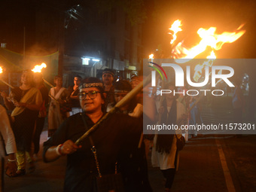
[[[84, 113], [69, 117], [59, 126], [56, 133], [44, 142], [44, 154], [51, 146], [62, 144], [68, 139], [75, 142], [86, 132], [81, 115], [84, 115], [89, 129], [93, 126], [93, 121]], [[102, 175], [114, 173], [117, 160], [125, 159], [130, 151], [138, 147], [142, 123], [139, 118], [114, 114], [91, 134]], [[84, 139], [81, 145], [81, 149], [67, 156], [64, 191], [93, 191], [93, 177], [97, 170], [89, 139]]]

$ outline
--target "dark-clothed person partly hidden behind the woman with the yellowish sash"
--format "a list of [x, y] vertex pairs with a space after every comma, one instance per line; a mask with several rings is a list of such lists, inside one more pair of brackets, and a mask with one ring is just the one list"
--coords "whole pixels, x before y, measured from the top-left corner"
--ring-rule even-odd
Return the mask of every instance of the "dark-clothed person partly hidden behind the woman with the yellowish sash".
[[34, 82], [35, 82], [35, 87], [40, 90], [42, 98], [43, 98], [43, 103], [41, 104], [41, 108], [38, 114], [38, 117], [36, 118], [35, 121], [35, 133], [33, 136], [33, 144], [34, 144], [34, 157], [37, 158], [39, 149], [40, 149], [40, 136], [41, 132], [44, 129], [44, 120], [45, 117], [47, 116], [47, 105], [48, 105], [48, 92], [49, 90], [47, 87], [44, 85], [44, 79], [43, 75], [40, 72], [36, 72], [34, 74]]

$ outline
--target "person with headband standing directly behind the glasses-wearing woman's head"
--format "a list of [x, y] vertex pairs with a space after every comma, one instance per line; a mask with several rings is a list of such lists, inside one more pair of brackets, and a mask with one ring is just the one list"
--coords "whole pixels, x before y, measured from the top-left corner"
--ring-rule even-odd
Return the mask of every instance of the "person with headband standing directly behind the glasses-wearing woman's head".
[[105, 99], [105, 105], [114, 102], [114, 71], [111, 69], [104, 69], [102, 72], [102, 82], [104, 85], [104, 91], [107, 94]]

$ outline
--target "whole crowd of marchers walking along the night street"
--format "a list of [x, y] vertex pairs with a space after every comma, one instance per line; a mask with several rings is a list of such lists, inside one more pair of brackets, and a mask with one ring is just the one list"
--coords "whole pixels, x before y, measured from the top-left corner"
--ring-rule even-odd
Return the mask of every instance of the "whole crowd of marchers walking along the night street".
[[[105, 69], [102, 80], [76, 75], [68, 88], [62, 87], [62, 76], [56, 75], [54, 87], [48, 90], [41, 73], [23, 71], [19, 87], [10, 93], [1, 92], [0, 155], [5, 174], [17, 177], [35, 171], [40, 136], [47, 120], [43, 160], [49, 163], [67, 157], [64, 191], [99, 191], [96, 178], [113, 174], [121, 175], [120, 191], [152, 191], [148, 180], [149, 151], [152, 166], [160, 167], [166, 178], [165, 191], [170, 191], [178, 165], [176, 142], [182, 136], [181, 130], [143, 136], [143, 118], [152, 124], [177, 124], [181, 119], [183, 124], [188, 119], [190, 123], [202, 123], [200, 103], [188, 118], [187, 108], [196, 97], [166, 94], [160, 99], [156, 93], [148, 94], [145, 87], [114, 108], [141, 81], [143, 77], [136, 75], [130, 81], [114, 81], [114, 71]], [[163, 88], [176, 89], [172, 83]], [[105, 118], [112, 108], [114, 113]], [[96, 128], [77, 142], [91, 127]], [[2, 186], [4, 180], [0, 178]]]

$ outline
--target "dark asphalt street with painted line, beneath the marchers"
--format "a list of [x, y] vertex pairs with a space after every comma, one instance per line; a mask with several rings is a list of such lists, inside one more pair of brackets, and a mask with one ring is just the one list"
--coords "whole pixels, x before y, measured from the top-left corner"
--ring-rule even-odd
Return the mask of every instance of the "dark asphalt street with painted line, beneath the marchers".
[[[41, 143], [47, 131], [41, 135]], [[189, 139], [180, 151], [180, 163], [172, 191], [256, 191], [256, 135], [236, 138], [230, 135], [200, 135]], [[151, 187], [164, 191], [164, 179], [159, 168], [148, 169]], [[5, 175], [5, 192], [59, 192], [62, 191], [66, 158], [43, 163], [41, 151], [35, 172], [17, 178]]]

